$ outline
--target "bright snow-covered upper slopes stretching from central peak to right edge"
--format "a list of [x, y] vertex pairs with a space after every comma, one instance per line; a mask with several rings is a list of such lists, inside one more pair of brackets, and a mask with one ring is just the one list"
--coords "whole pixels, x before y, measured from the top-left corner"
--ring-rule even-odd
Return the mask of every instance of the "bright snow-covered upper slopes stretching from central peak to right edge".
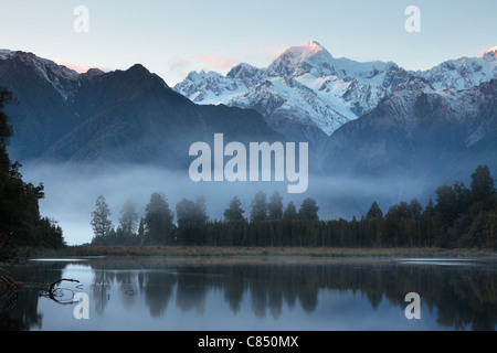
[[[326, 135], [371, 111], [411, 76], [436, 90], [467, 89], [497, 78], [496, 47], [482, 57], [444, 62], [429, 71], [408, 72], [392, 62], [360, 63], [335, 58], [318, 42], [290, 46], [266, 68], [235, 66], [226, 76], [191, 73], [175, 90], [198, 104], [254, 108], [278, 128], [284, 120], [318, 128]], [[243, 72], [241, 75], [234, 73]]]

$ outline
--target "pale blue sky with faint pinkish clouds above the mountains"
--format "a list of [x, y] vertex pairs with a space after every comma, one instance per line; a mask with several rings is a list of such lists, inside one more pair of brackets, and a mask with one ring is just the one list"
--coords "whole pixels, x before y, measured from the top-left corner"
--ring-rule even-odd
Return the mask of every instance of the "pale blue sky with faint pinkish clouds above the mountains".
[[[76, 32], [77, 6], [88, 32]], [[409, 6], [421, 32], [408, 33]], [[0, 49], [83, 67], [140, 63], [175, 85], [193, 69], [265, 67], [317, 41], [335, 57], [425, 69], [497, 45], [496, 0], [0, 0]]]

